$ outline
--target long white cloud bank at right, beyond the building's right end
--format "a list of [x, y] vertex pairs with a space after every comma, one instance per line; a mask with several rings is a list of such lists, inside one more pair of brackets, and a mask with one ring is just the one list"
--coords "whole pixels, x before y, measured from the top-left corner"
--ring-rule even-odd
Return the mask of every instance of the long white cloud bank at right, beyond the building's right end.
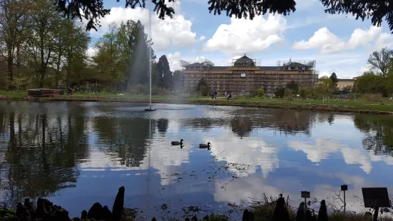
[[391, 34], [382, 33], [382, 27], [370, 26], [369, 29], [354, 29], [349, 40], [345, 41], [323, 27], [315, 31], [308, 41], [296, 41], [292, 49], [320, 49], [320, 53], [337, 53], [359, 46], [366, 46], [371, 51], [379, 50], [384, 46], [393, 46], [393, 37]]

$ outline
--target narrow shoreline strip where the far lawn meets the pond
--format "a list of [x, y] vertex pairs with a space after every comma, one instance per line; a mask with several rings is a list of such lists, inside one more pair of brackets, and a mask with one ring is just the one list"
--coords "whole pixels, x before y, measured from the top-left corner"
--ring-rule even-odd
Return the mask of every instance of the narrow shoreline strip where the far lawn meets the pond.
[[[148, 103], [149, 98], [134, 98], [134, 97], [108, 97], [108, 96], [56, 96], [45, 98], [11, 98], [8, 96], [0, 96], [0, 101], [80, 101], [80, 102], [133, 102], [133, 103]], [[382, 114], [393, 115], [393, 106], [384, 105], [392, 111], [377, 111], [372, 110], [374, 107], [381, 107], [382, 105], [369, 105], [372, 108], [362, 108], [361, 106], [339, 105], [339, 104], [317, 104], [317, 103], [296, 103], [296, 102], [280, 102], [280, 101], [239, 101], [217, 99], [210, 100], [206, 98], [152, 98], [152, 103], [173, 103], [173, 104], [194, 104], [194, 105], [210, 105], [210, 106], [236, 106], [245, 108], [288, 108], [297, 110], [309, 111], [330, 111], [342, 113], [367, 113], [367, 114]], [[367, 105], [364, 105], [367, 106]]]

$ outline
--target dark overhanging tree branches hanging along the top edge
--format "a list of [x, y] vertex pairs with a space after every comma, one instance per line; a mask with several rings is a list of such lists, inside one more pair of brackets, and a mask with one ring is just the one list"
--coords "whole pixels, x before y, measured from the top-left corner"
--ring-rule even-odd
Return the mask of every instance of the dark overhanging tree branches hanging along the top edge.
[[[110, 13], [111, 10], [104, 9], [103, 0], [53, 0], [60, 11], [68, 18], [78, 18], [88, 20], [86, 29], [96, 29], [99, 26], [99, 19]], [[173, 4], [176, 0], [152, 0], [156, 14], [160, 19], [165, 19], [165, 16], [172, 18], [175, 10], [168, 6]], [[386, 17], [387, 24], [390, 30], [393, 30], [393, 11], [392, 4], [389, 1], [372, 1], [372, 0], [320, 0], [322, 4], [327, 7], [325, 13], [328, 14], [352, 14], [356, 19], [371, 17], [371, 22], [374, 26], [380, 26], [382, 19]], [[220, 1], [208, 0], [208, 10], [211, 13], [220, 15], [223, 11], [227, 16], [241, 19], [242, 17], [250, 18], [264, 15], [266, 13], [282, 14], [286, 16], [291, 12], [296, 11], [295, 0], [280, 1], [262, 1], [262, 0], [233, 0]], [[146, 0], [126, 0], [126, 7], [134, 9], [136, 6], [145, 7]], [[372, 11], [372, 12], [371, 12]], [[97, 29], [96, 29], [97, 30]]]

